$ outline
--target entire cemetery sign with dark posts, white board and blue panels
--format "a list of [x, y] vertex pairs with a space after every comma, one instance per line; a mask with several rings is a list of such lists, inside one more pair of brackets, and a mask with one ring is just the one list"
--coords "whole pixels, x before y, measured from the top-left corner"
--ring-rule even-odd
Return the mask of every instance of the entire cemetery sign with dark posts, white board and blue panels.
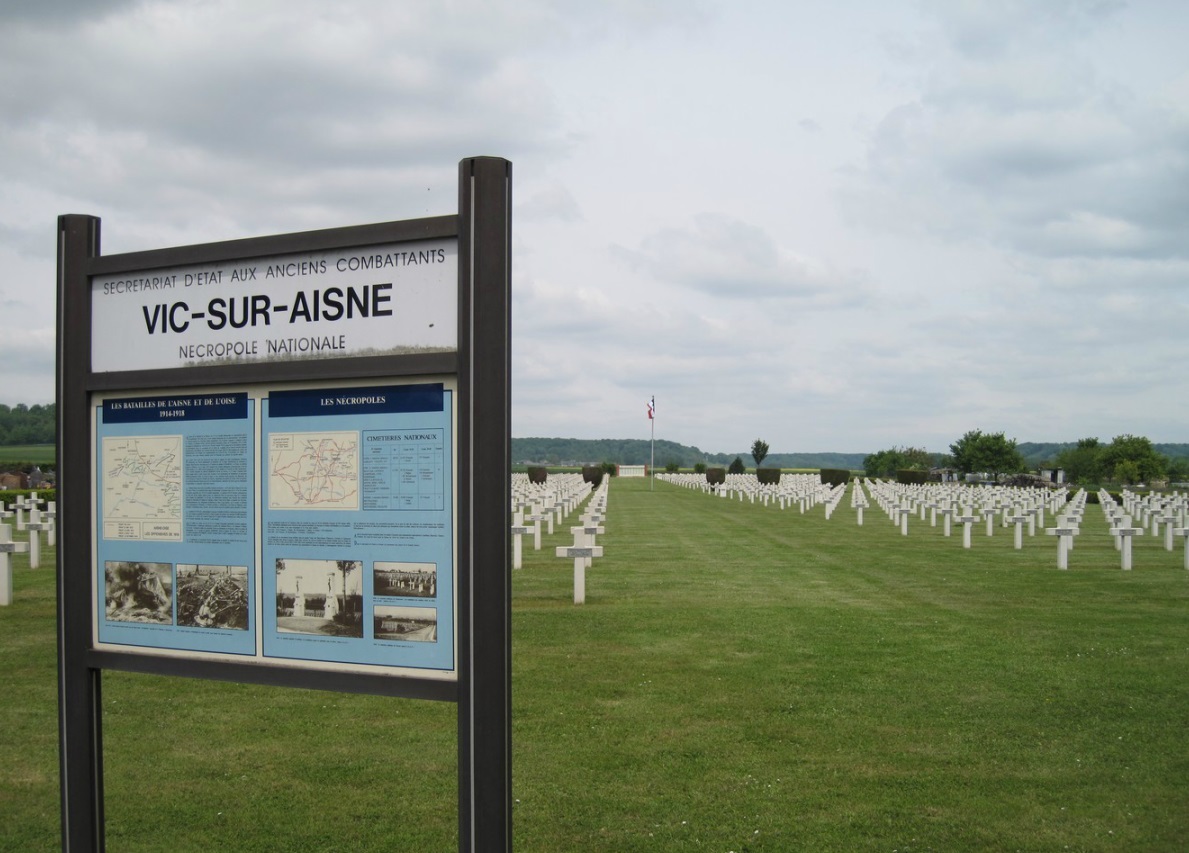
[[[511, 849], [510, 305], [501, 158], [460, 162], [457, 215], [114, 256], [58, 219], [64, 851], [105, 849], [103, 670], [454, 702], [459, 849]], [[216, 573], [234, 622], [180, 603]]]

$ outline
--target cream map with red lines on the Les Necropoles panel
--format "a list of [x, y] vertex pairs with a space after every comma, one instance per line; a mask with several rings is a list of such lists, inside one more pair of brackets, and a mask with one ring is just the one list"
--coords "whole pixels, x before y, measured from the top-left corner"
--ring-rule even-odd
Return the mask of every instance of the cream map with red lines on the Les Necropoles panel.
[[359, 509], [359, 434], [271, 433], [269, 509]]

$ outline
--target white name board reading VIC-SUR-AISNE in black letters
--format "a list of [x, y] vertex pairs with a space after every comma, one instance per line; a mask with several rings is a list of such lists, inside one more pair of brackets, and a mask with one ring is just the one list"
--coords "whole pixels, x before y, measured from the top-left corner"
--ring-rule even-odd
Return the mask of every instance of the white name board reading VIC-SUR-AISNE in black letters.
[[95, 276], [92, 370], [449, 352], [458, 242]]

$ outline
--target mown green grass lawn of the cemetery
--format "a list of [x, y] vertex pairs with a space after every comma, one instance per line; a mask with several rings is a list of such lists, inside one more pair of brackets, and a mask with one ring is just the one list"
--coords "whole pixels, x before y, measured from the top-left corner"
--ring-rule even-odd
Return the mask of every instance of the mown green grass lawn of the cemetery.
[[[1189, 848], [1183, 541], [1069, 571], [876, 508], [612, 479], [514, 573], [520, 852]], [[18, 538], [20, 534], [17, 534]], [[52, 551], [0, 608], [0, 849], [58, 846]], [[447, 703], [103, 675], [108, 849], [457, 847]]]

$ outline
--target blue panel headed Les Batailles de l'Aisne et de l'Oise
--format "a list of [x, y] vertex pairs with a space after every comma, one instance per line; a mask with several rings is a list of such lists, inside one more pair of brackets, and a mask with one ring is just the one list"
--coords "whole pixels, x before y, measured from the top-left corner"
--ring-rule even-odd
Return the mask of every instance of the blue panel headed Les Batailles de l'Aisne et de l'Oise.
[[127, 646], [256, 654], [254, 401], [96, 407], [96, 625]]

